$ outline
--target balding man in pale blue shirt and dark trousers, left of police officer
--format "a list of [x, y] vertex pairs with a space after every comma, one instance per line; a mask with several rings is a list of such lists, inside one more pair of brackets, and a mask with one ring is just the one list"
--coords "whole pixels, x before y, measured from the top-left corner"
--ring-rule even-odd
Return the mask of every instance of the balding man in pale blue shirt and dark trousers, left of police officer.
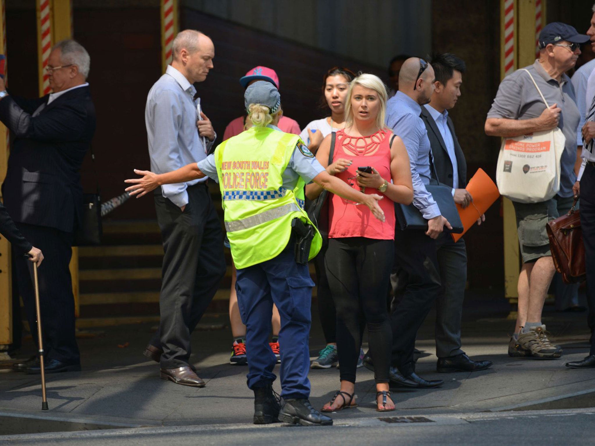
[[[213, 68], [215, 46], [205, 34], [184, 30], [172, 52], [171, 65], [149, 91], [145, 108], [151, 170], [158, 174], [201, 161], [215, 140], [193, 86]], [[155, 209], [165, 253], [161, 322], [144, 354], [161, 364], [162, 379], [204, 387], [189, 364], [190, 334], [226, 271], [221, 223], [206, 178], [156, 189]]]

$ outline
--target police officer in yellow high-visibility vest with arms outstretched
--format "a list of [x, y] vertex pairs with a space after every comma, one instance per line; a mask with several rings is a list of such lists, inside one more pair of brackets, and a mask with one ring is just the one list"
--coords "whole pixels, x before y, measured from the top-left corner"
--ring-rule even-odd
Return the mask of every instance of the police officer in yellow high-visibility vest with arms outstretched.
[[[237, 268], [237, 301], [246, 324], [248, 387], [255, 394], [254, 423], [277, 420], [302, 425], [331, 425], [333, 420], [308, 401], [310, 304], [314, 282], [308, 259], [320, 250], [321, 237], [299, 206], [296, 194], [314, 181], [324, 189], [361, 203], [384, 221], [380, 196], [363, 194], [325, 171], [299, 136], [275, 124], [282, 115], [280, 95], [269, 82], [246, 89], [246, 110], [253, 127], [221, 143], [198, 164], [126, 180], [131, 195], [143, 196], [161, 184], [208, 175], [218, 180], [224, 221]], [[280, 409], [272, 383], [275, 356], [268, 345], [273, 303], [281, 315]]]

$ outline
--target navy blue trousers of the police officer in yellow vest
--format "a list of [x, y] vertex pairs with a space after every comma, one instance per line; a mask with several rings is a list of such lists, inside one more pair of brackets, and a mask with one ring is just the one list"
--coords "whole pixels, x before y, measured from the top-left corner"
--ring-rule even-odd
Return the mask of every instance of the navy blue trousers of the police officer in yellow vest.
[[309, 397], [312, 287], [308, 265], [296, 263], [290, 246], [274, 259], [237, 270], [237, 305], [246, 325], [250, 389], [276, 378], [277, 361], [268, 344], [274, 303], [281, 316], [281, 397]]

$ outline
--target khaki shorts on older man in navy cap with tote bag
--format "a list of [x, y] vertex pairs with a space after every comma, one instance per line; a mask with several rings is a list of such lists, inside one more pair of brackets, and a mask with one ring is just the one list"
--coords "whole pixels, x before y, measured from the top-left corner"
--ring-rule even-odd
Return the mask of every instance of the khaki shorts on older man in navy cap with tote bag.
[[522, 262], [534, 262], [540, 257], [551, 256], [546, 224], [558, 218], [558, 200], [552, 198], [540, 203], [512, 204], [515, 206]]

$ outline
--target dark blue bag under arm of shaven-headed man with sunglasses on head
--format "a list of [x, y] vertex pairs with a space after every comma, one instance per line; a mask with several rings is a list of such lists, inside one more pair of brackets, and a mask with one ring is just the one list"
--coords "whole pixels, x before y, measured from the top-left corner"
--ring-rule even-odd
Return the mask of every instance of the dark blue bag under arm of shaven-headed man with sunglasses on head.
[[[434, 166], [431, 151], [428, 153], [430, 158], [431, 171], [434, 172], [436, 181], [438, 181], [438, 173]], [[452, 230], [444, 227], [445, 233], [462, 234], [464, 231], [461, 216], [456, 209], [455, 200], [452, 197], [452, 187], [443, 184], [428, 184], [425, 189], [432, 194], [434, 201], [440, 209], [441, 215], [448, 220], [452, 226]], [[394, 203], [394, 214], [397, 218], [397, 224], [401, 230], [428, 230], [428, 221], [421, 215], [419, 209], [413, 203], [411, 205], [403, 205], [402, 203]]]

